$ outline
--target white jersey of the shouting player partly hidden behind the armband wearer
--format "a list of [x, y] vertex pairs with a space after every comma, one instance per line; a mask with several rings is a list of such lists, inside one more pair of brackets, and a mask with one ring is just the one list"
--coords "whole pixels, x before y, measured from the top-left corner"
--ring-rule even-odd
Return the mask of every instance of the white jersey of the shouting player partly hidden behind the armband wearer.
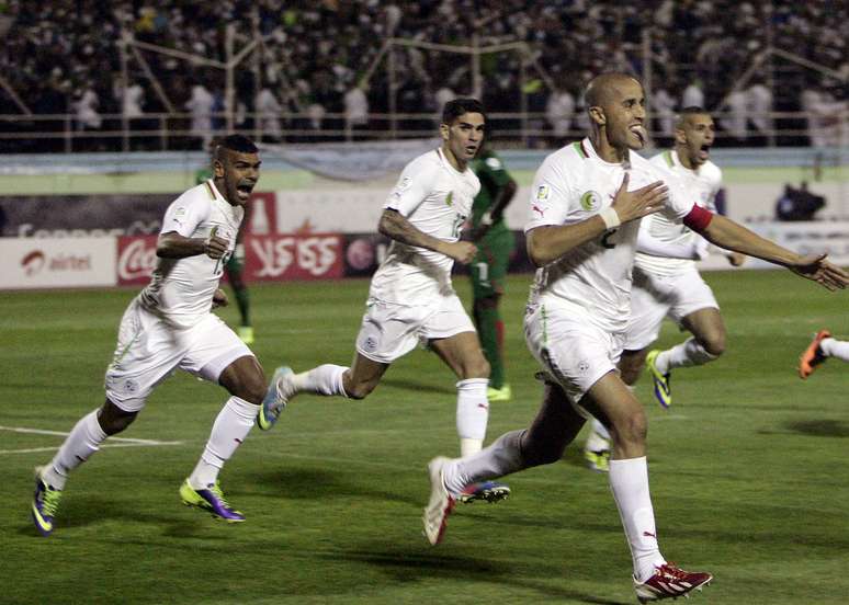
[[[690, 170], [681, 164], [673, 149], [658, 153], [649, 161], [667, 175], [677, 179], [692, 202], [712, 213], [716, 212], [715, 199], [722, 187], [722, 170], [715, 163], [709, 160], [698, 170]], [[664, 243], [690, 246], [701, 238], [687, 226], [669, 220], [661, 214], [647, 216], [639, 228]], [[695, 267], [695, 261], [653, 256], [639, 252], [635, 264], [642, 271], [655, 275], [675, 275]]]

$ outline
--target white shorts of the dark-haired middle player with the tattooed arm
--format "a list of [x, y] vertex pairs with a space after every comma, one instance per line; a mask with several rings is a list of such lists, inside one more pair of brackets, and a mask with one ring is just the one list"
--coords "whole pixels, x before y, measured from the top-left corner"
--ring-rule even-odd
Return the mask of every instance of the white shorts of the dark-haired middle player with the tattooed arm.
[[370, 298], [356, 335], [356, 351], [382, 364], [390, 364], [417, 344], [475, 332], [456, 294], [431, 306], [407, 306]]

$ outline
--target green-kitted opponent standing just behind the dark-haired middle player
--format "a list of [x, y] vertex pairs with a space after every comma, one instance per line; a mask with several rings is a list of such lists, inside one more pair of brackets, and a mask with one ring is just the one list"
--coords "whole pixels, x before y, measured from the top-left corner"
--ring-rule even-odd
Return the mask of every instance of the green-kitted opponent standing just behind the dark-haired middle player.
[[484, 147], [471, 163], [480, 180], [480, 193], [472, 206], [472, 240], [477, 255], [472, 261], [473, 317], [491, 374], [487, 397], [490, 401], [507, 401], [510, 385], [505, 377], [503, 322], [498, 301], [503, 294], [503, 281], [516, 241], [503, 220], [503, 212], [516, 194], [516, 181], [501, 159]]

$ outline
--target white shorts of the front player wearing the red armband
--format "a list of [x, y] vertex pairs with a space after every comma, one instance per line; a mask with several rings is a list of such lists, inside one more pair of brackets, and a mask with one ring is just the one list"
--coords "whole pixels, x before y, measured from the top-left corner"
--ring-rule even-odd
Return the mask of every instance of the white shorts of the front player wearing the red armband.
[[524, 339], [540, 365], [585, 415], [577, 403], [602, 376], [619, 372], [624, 344], [623, 333], [611, 333], [587, 316], [545, 305], [528, 308]]

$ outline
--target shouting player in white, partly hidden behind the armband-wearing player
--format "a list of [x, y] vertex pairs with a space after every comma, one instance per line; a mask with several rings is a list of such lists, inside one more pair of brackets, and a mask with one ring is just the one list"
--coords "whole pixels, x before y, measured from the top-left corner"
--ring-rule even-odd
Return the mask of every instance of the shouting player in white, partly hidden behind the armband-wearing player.
[[[675, 127], [675, 147], [649, 161], [661, 172], [677, 179], [691, 198], [716, 212], [715, 198], [722, 189], [722, 171], [710, 158], [714, 123], [702, 107], [681, 110]], [[711, 287], [704, 283], [695, 260], [708, 254], [708, 240], [660, 214], [647, 216], [639, 226], [637, 253], [631, 290], [631, 322], [619, 369], [622, 380], [633, 386], [648, 364], [655, 397], [664, 408], [672, 403], [670, 374], [677, 367], [703, 365], [725, 351], [725, 323]], [[727, 251], [734, 266], [745, 256]], [[668, 317], [692, 336], [667, 351], [650, 351]], [[610, 435], [598, 420], [584, 447], [587, 464], [607, 471]]]

